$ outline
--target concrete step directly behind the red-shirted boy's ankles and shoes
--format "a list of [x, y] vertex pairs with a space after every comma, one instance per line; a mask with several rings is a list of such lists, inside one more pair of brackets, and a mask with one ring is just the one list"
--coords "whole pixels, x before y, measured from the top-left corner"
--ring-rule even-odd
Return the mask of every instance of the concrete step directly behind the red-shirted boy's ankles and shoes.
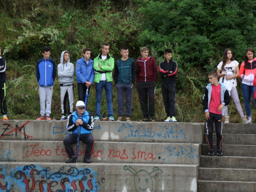
[[[216, 144], [214, 145], [216, 152]], [[225, 156], [239, 156], [239, 157], [256, 157], [256, 145], [222, 145], [222, 152]], [[209, 153], [208, 144], [202, 144], [202, 155], [207, 156]]]

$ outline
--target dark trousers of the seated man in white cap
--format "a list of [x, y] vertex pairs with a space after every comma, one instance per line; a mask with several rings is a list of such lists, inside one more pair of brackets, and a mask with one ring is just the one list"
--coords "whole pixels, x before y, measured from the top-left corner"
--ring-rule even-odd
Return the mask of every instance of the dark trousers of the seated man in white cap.
[[[64, 140], [63, 143], [66, 148], [66, 152], [68, 153], [69, 157], [74, 157], [75, 153], [72, 148], [72, 144], [76, 143], [76, 138], [77, 134], [72, 133], [68, 135]], [[90, 159], [91, 158], [91, 153], [92, 153], [92, 148], [93, 148], [93, 136], [91, 134], [83, 134], [80, 135], [79, 141], [82, 141], [83, 143], [86, 143], [86, 154], [84, 155], [85, 158]]]

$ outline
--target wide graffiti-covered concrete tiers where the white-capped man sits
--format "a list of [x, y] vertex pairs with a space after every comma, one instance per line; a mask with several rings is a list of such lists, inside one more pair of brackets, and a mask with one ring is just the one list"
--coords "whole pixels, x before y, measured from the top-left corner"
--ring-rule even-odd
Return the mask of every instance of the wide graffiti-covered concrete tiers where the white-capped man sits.
[[67, 164], [66, 123], [1, 120], [0, 191], [197, 191], [204, 124], [96, 122], [93, 163]]

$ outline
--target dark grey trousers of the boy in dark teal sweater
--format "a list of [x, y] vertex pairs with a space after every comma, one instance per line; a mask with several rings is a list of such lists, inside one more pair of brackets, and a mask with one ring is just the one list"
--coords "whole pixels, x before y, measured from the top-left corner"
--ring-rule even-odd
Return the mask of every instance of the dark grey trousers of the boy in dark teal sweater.
[[117, 114], [123, 116], [124, 108], [124, 95], [126, 105], [126, 116], [131, 117], [132, 115], [132, 100], [133, 100], [133, 86], [132, 84], [117, 84]]

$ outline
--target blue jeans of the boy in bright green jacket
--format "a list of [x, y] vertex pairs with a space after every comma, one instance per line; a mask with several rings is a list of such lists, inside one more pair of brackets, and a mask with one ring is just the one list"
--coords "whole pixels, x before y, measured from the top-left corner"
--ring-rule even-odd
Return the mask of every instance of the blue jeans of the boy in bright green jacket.
[[108, 116], [113, 116], [113, 105], [112, 105], [112, 81], [99, 81], [96, 83], [96, 116], [100, 116], [101, 98], [102, 91], [105, 88], [106, 92], [106, 104], [108, 105]]

